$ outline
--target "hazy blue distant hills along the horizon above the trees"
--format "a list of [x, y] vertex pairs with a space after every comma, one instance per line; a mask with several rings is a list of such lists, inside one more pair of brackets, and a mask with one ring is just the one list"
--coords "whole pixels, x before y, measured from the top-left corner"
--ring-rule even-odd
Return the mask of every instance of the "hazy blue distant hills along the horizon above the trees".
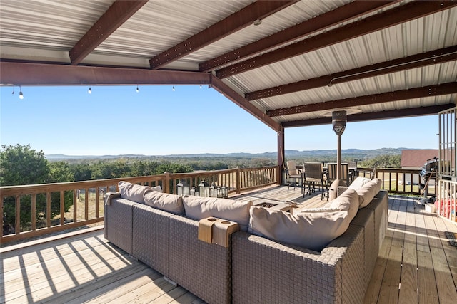
[[[361, 149], [343, 149], [341, 154], [346, 155], [360, 155], [360, 157], [376, 157], [377, 155], [399, 155], [401, 150], [407, 148], [381, 148], [373, 150]], [[319, 157], [319, 156], [333, 156], [336, 155], [335, 150], [286, 150], [286, 157]], [[117, 159], [117, 158], [151, 158], [151, 157], [186, 157], [186, 158], [201, 158], [201, 157], [239, 157], [239, 158], [276, 158], [277, 152], [263, 152], [263, 153], [201, 153], [201, 154], [170, 154], [170, 155], [144, 155], [144, 154], [121, 154], [121, 155], [65, 155], [65, 154], [47, 154], [46, 159], [59, 160], [59, 159]]]

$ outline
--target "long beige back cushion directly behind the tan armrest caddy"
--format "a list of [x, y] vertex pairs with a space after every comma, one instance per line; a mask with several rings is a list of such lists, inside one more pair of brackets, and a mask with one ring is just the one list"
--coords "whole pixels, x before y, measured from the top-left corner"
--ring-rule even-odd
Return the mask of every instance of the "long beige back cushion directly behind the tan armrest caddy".
[[219, 219], [236, 221], [240, 229], [247, 231], [249, 223], [249, 208], [252, 201], [235, 201], [233, 199], [218, 199], [215, 197], [184, 196], [186, 216], [199, 221], [209, 216]]

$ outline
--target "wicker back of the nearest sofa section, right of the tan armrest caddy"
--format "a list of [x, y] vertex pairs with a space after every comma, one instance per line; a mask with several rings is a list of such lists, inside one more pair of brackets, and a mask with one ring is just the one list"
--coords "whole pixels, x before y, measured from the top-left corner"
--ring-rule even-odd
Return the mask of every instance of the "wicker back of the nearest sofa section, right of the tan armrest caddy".
[[348, 229], [338, 246], [333, 241], [318, 253], [236, 232], [232, 235], [233, 303], [342, 303], [341, 258], [354, 238], [362, 246], [361, 231]]

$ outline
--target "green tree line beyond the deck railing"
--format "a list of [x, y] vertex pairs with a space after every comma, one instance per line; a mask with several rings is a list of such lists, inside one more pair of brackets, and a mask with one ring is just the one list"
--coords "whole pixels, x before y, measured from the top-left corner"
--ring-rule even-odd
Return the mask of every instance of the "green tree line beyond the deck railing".
[[[358, 167], [399, 168], [400, 155], [378, 156], [359, 160]], [[311, 162], [316, 159], [299, 159]], [[321, 159], [322, 161], [322, 159]], [[335, 162], [336, 159], [325, 159]], [[253, 157], [156, 157], [154, 159], [79, 159], [49, 161], [42, 150], [36, 151], [30, 145], [2, 145], [0, 150], [0, 185], [16, 186], [26, 184], [48, 184], [57, 182], [79, 182], [94, 179], [140, 177], [170, 173], [186, 173], [196, 170], [219, 170], [234, 167], [266, 167], [276, 165], [276, 159]], [[65, 212], [73, 204], [71, 192], [65, 193]], [[4, 233], [15, 226], [16, 209], [14, 198], [4, 198]], [[36, 196], [36, 219], [44, 221], [46, 196]], [[31, 197], [21, 198], [21, 225], [31, 219]], [[60, 214], [60, 194], [51, 193], [51, 218]]]

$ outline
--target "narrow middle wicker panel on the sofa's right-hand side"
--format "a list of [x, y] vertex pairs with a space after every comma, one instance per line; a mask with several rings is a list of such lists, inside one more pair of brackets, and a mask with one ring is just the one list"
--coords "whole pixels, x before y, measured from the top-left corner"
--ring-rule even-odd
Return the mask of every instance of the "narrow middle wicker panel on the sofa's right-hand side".
[[376, 259], [378, 258], [378, 248], [375, 247], [375, 226], [373, 209], [362, 208], [357, 212], [356, 217], [351, 221], [351, 225], [363, 227], [363, 252], [365, 260], [365, 287], [370, 283]]

